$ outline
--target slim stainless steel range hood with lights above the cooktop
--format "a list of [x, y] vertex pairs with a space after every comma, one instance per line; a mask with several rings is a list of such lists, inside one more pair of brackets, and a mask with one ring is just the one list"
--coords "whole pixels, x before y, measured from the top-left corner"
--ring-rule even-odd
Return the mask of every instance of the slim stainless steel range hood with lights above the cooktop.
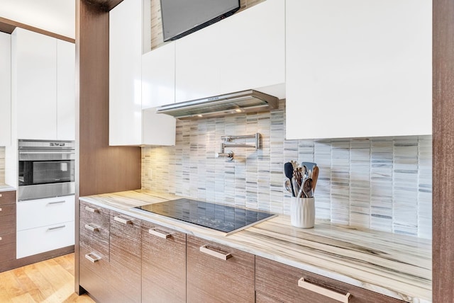
[[162, 105], [156, 113], [178, 119], [222, 117], [238, 113], [259, 113], [277, 108], [279, 99], [252, 89], [221, 96]]

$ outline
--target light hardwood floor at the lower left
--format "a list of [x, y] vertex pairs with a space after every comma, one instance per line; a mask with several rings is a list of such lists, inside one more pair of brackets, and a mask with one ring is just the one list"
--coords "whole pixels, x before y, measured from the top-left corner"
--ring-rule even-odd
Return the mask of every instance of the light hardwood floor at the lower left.
[[94, 302], [74, 293], [74, 253], [0, 273], [0, 302]]

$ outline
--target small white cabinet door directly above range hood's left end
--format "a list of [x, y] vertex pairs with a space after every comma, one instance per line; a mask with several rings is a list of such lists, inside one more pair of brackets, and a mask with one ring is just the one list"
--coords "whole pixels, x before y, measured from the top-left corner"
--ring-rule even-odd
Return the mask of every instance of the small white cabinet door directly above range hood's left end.
[[142, 109], [175, 102], [175, 42], [142, 56]]

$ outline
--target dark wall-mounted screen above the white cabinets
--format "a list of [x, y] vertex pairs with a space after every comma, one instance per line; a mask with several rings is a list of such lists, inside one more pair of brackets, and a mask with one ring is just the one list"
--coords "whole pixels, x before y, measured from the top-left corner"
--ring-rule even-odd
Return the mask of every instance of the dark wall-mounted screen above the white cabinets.
[[231, 16], [240, 0], [160, 0], [164, 41], [176, 40]]

